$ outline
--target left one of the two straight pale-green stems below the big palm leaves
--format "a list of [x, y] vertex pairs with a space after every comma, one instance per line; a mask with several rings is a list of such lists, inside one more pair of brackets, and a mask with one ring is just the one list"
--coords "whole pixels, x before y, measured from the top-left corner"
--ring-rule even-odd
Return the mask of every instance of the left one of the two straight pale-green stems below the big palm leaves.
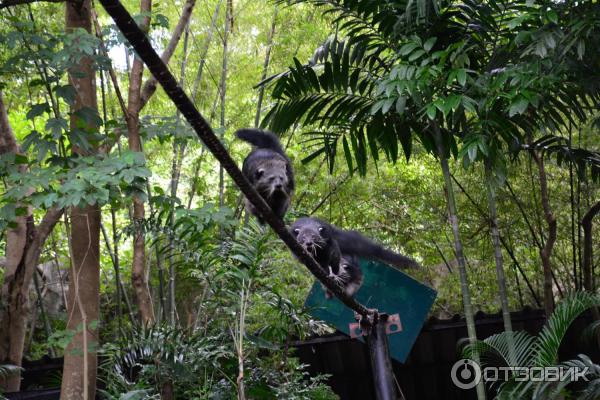
[[[440, 159], [440, 166], [442, 168], [442, 174], [444, 176], [444, 185], [446, 189], [446, 195], [448, 200], [448, 219], [452, 227], [452, 234], [454, 236], [454, 251], [456, 253], [456, 261], [458, 262], [458, 271], [460, 276], [460, 289], [463, 299], [463, 307], [465, 310], [465, 321], [467, 323], [467, 334], [469, 336], [469, 343], [474, 344], [477, 341], [477, 333], [475, 330], [475, 318], [473, 313], [473, 305], [471, 304], [471, 291], [469, 289], [469, 281], [467, 278], [467, 263], [463, 253], [462, 240], [460, 238], [460, 231], [458, 226], [458, 216], [456, 214], [456, 200], [454, 198], [454, 188], [452, 187], [452, 178], [450, 177], [450, 167], [448, 165], [448, 159], [446, 158], [446, 149], [444, 146], [444, 139], [442, 132], [436, 125], [434, 127], [434, 138], [437, 148], [438, 157]], [[476, 360], [477, 361], [477, 360]], [[477, 398], [479, 400], [485, 399], [485, 388], [483, 382], [479, 382], [477, 385]]]

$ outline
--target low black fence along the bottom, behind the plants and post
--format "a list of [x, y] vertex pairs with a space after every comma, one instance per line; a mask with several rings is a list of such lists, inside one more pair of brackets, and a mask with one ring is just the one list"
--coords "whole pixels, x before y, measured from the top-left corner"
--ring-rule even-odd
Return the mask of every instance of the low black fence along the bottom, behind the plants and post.
[[[545, 322], [540, 310], [525, 309], [511, 314], [513, 328], [537, 334]], [[582, 331], [592, 321], [591, 315], [577, 319], [567, 332], [560, 349], [560, 359], [585, 353], [600, 362], [597, 345], [585, 343]], [[502, 332], [500, 314], [477, 313], [477, 334], [480, 339]], [[467, 337], [464, 319], [430, 318], [424, 325], [405, 364], [393, 363], [394, 373], [407, 400], [468, 400], [474, 391], [455, 387], [450, 378], [452, 365], [459, 359], [460, 343]], [[342, 400], [373, 399], [373, 382], [366, 346], [342, 334], [321, 336], [295, 343], [296, 354], [308, 364], [311, 374], [330, 374], [329, 384]], [[62, 359], [45, 358], [24, 364], [23, 392], [9, 393], [9, 399], [52, 400], [59, 398], [58, 389], [32, 390], [56, 381], [62, 370]]]

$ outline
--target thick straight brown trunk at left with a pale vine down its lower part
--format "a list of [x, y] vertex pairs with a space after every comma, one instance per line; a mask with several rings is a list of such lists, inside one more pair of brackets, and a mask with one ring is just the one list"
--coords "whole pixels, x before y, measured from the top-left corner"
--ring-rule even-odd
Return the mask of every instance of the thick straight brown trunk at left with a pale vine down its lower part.
[[[66, 29], [91, 32], [91, 1], [66, 3]], [[71, 129], [78, 126], [75, 111], [98, 110], [95, 73], [92, 61], [82, 58], [76, 70], [69, 71], [69, 82], [76, 91]], [[75, 154], [85, 153], [73, 148]], [[100, 312], [100, 208], [98, 205], [73, 207], [69, 249], [71, 276], [67, 298], [67, 330], [75, 333], [65, 349], [61, 400], [93, 399], [96, 393], [96, 348]]]

